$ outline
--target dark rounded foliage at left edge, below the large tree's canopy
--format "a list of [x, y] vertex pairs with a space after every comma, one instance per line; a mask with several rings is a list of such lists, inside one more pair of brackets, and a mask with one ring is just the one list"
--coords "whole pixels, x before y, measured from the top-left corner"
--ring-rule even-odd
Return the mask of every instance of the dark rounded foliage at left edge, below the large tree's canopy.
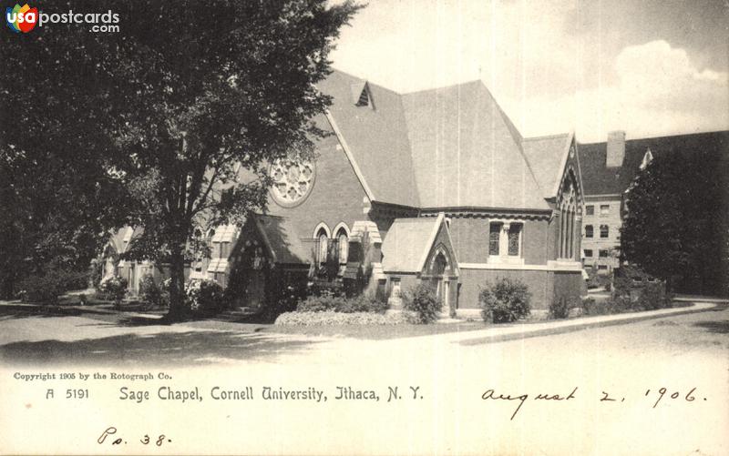
[[123, 208], [98, 157], [77, 150], [69, 160], [62, 144], [36, 153], [11, 145], [0, 155], [0, 297], [28, 275], [86, 271]]

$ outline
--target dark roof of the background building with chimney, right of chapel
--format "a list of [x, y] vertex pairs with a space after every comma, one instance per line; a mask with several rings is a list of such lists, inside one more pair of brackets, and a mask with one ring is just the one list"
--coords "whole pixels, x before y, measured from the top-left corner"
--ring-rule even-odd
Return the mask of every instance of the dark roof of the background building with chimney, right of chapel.
[[692, 152], [699, 150], [726, 154], [729, 151], [729, 131], [630, 139], [625, 141], [625, 158], [621, 167], [605, 166], [607, 143], [580, 144], [578, 154], [585, 194], [615, 195], [624, 192], [631, 185], [649, 149], [654, 159], [680, 153], [690, 160]]

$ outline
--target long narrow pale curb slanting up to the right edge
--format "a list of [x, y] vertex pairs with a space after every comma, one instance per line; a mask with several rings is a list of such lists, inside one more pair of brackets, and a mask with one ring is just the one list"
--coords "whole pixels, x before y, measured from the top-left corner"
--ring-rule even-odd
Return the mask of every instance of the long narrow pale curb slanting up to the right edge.
[[[639, 321], [644, 321], [648, 319], [662, 319], [662, 318], [668, 318], [668, 317], [677, 317], [680, 315], [687, 315], [692, 313], [699, 313], [699, 312], [706, 312], [706, 311], [714, 311], [717, 309], [722, 309], [726, 305], [726, 303], [699, 303], [699, 304], [714, 304], [710, 307], [701, 307], [699, 309], [696, 309], [697, 303], [693, 304], [692, 308], [686, 308], [682, 310], [677, 310], [675, 312], [662, 312], [662, 313], [652, 313], [651, 315], [636, 315], [632, 318], [624, 318], [624, 319], [608, 319], [608, 320], [602, 320], [602, 321], [585, 321], [584, 323], [580, 324], [574, 324], [574, 325], [565, 325], [565, 326], [558, 326], [555, 328], [542, 328], [542, 329], [534, 329], [534, 330], [525, 330], [520, 332], [513, 332], [508, 334], [494, 334], [492, 336], [478, 336], [478, 337], [471, 337], [471, 338], [464, 338], [461, 337], [457, 340], [450, 340], [450, 342], [458, 343], [460, 345], [479, 345], [483, 343], [488, 342], [503, 342], [508, 340], [515, 340], [515, 339], [529, 339], [529, 338], [535, 338], [535, 337], [541, 337], [541, 336], [553, 336], [557, 334], [564, 334], [568, 332], [574, 332], [574, 331], [580, 331], [583, 329], [598, 329], [598, 328], [605, 328], [609, 326], [617, 326], [627, 323], [636, 323]], [[622, 314], [624, 315], [624, 314]]]

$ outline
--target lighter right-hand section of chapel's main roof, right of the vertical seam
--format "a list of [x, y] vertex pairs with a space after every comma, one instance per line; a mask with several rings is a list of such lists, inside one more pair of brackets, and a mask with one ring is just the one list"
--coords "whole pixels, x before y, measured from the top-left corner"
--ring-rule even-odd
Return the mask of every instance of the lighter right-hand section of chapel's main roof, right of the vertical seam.
[[548, 208], [521, 137], [480, 81], [403, 96], [424, 208]]

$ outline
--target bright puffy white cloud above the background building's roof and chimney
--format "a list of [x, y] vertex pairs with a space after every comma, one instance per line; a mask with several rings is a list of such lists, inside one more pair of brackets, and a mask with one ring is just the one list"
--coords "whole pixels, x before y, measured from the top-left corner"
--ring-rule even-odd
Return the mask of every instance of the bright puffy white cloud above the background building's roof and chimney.
[[617, 81], [574, 95], [508, 99], [525, 136], [575, 128], [582, 142], [620, 129], [653, 137], [729, 128], [729, 75], [700, 70], [684, 49], [663, 40], [627, 46], [615, 59]]

